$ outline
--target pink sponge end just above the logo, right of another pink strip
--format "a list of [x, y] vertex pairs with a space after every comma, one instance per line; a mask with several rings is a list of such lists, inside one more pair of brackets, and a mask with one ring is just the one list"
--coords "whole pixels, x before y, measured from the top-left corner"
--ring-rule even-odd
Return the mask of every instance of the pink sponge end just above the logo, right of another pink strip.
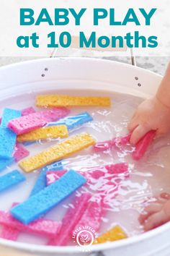
[[90, 226], [95, 231], [98, 231], [101, 225], [102, 217], [104, 216], [103, 202], [90, 202], [86, 208], [84, 215], [76, 225], [76, 229], [80, 227]]

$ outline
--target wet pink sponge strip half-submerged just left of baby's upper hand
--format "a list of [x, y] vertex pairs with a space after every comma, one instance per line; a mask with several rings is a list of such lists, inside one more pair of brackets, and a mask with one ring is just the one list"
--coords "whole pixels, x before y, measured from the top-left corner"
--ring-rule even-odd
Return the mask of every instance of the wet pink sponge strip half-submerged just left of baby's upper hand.
[[119, 145], [126, 145], [128, 142], [130, 142], [130, 135], [126, 135], [125, 137], [115, 137], [112, 140], [107, 140], [104, 142], [97, 142], [94, 145], [94, 150], [95, 151], [104, 151], [108, 150], [109, 148], [112, 148], [114, 146], [119, 146]]

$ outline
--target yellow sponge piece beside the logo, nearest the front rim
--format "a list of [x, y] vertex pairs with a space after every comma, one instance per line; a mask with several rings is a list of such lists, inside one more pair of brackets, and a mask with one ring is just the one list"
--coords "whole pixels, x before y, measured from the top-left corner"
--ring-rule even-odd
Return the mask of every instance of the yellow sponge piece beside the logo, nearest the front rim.
[[113, 242], [120, 239], [127, 238], [127, 234], [125, 234], [125, 231], [122, 230], [120, 226], [115, 226], [113, 229], [110, 229], [106, 233], [99, 236], [95, 241], [94, 244], [102, 244], [105, 242]]

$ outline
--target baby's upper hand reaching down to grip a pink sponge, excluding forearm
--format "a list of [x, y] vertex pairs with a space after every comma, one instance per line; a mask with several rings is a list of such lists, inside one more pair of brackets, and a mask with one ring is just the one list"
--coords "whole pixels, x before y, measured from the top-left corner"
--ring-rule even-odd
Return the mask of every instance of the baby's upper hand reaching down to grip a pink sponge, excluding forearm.
[[170, 131], [170, 108], [164, 106], [156, 97], [138, 106], [128, 129], [132, 132], [130, 142], [135, 145], [147, 132], [156, 130], [156, 137]]

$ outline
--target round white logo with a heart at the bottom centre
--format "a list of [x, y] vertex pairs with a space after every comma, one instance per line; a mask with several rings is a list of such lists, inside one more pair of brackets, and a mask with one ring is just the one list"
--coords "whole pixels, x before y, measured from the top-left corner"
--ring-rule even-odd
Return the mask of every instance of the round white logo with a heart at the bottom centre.
[[79, 226], [72, 234], [76, 247], [83, 252], [90, 251], [90, 247], [97, 237], [97, 232], [91, 226]]

